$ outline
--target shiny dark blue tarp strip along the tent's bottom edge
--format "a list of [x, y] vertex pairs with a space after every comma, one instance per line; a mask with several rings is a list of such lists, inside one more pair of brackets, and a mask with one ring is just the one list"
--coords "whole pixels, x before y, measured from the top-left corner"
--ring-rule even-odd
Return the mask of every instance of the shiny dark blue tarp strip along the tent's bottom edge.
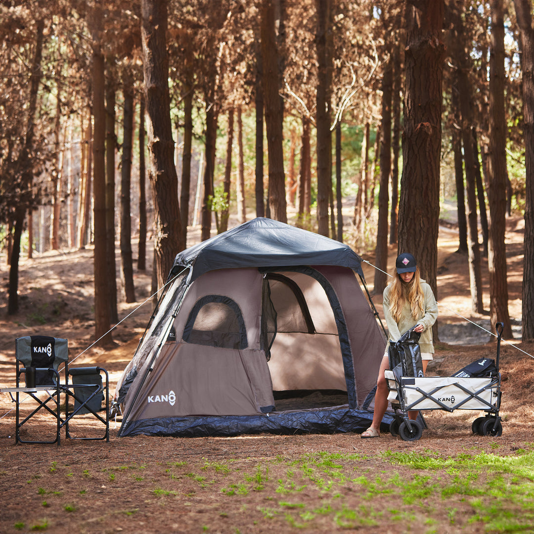
[[[174, 437], [223, 437], [240, 434], [333, 434], [366, 430], [373, 412], [351, 409], [348, 405], [271, 412], [269, 415], [227, 415], [144, 419], [127, 423], [130, 436], [146, 434]], [[389, 430], [392, 413], [382, 419], [381, 429]]]

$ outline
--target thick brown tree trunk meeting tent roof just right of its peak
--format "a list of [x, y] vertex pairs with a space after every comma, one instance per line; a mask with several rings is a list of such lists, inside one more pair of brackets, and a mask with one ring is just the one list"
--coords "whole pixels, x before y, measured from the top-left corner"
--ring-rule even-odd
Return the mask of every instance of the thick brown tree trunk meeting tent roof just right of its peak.
[[269, 157], [269, 209], [273, 219], [286, 223], [283, 132], [278, 87], [278, 49], [274, 32], [274, 4], [272, 0], [262, 0], [261, 47], [265, 126]]

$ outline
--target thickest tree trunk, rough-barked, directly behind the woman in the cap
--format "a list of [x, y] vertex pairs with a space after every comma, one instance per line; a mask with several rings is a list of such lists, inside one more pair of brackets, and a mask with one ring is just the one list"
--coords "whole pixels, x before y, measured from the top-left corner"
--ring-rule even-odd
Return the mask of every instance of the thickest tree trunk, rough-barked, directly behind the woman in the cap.
[[437, 298], [444, 2], [423, 0], [417, 6], [407, 10], [398, 251], [417, 256]]

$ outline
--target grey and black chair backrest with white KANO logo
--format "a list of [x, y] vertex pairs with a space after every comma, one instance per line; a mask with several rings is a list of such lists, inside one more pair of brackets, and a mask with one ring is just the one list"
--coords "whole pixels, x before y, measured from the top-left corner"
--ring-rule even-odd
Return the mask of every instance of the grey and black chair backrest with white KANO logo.
[[[68, 341], [62, 337], [32, 335], [17, 337], [15, 358], [24, 367], [53, 368], [56, 371], [68, 361]], [[56, 375], [50, 371], [37, 371], [36, 386], [55, 386]]]

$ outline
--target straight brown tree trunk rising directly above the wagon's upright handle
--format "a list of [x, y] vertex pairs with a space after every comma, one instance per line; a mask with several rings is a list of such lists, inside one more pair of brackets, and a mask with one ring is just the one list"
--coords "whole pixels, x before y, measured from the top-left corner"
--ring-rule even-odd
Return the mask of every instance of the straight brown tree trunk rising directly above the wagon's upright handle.
[[512, 337], [508, 314], [508, 282], [506, 276], [506, 116], [505, 116], [505, 48], [504, 6], [502, 0], [491, 2], [490, 47], [490, 225], [488, 266], [490, 270], [490, 320], [493, 332], [497, 321], [504, 324], [502, 335]]

